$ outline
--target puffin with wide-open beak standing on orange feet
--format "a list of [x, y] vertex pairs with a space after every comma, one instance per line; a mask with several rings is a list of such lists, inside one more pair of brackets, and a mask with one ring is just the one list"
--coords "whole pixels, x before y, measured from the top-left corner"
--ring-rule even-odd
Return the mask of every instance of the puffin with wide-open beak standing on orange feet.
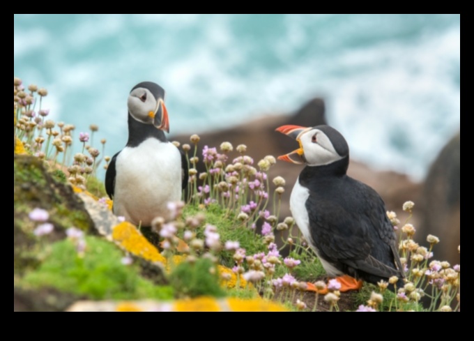
[[388, 282], [392, 276], [402, 287], [403, 266], [385, 203], [369, 185], [346, 174], [349, 145], [342, 134], [326, 125], [276, 130], [300, 144], [278, 157], [305, 165], [291, 191], [291, 214], [340, 291], [360, 289], [362, 281]]

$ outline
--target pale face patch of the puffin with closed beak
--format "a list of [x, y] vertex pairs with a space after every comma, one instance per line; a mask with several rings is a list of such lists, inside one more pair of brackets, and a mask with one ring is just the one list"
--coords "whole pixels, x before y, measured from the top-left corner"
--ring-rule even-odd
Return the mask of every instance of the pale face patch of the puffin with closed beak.
[[155, 114], [158, 102], [148, 89], [133, 89], [128, 96], [127, 104], [128, 112], [134, 119], [142, 123], [153, 123], [153, 116], [150, 116], [150, 112]]

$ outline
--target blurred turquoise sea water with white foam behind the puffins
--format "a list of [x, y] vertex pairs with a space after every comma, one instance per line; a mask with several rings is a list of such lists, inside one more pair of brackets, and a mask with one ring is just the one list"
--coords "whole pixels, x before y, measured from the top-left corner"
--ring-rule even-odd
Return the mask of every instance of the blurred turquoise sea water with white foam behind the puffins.
[[420, 179], [460, 124], [460, 15], [14, 15], [14, 74], [54, 119], [127, 139], [138, 82], [167, 91], [172, 133], [327, 100], [353, 158]]

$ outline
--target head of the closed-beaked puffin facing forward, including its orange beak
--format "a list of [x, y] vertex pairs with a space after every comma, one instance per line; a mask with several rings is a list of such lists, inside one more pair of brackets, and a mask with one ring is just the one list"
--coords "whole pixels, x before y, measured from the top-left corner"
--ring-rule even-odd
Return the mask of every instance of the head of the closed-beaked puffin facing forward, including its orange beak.
[[135, 85], [128, 96], [128, 112], [139, 122], [153, 124], [169, 132], [168, 112], [165, 107], [165, 89], [153, 82]]

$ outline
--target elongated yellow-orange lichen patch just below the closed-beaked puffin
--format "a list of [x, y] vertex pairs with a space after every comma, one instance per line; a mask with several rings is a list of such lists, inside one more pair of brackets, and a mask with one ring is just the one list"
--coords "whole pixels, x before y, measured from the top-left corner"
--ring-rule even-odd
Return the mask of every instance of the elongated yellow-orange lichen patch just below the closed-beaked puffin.
[[133, 255], [151, 262], [166, 263], [165, 257], [130, 222], [116, 225], [112, 231], [112, 238]]

